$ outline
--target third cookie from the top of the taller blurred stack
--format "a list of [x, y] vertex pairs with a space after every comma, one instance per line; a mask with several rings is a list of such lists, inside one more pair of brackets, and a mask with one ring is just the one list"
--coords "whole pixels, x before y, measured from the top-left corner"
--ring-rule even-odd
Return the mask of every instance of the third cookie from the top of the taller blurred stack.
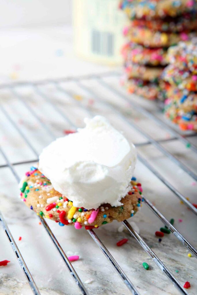
[[130, 27], [127, 33], [128, 40], [145, 47], [169, 47], [180, 41], [191, 40], [196, 32], [159, 32], [143, 27]]

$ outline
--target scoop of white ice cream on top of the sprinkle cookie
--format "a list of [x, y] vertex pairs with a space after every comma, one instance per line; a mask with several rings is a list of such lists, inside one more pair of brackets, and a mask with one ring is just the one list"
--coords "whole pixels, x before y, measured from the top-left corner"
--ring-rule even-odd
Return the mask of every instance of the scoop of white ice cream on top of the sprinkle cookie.
[[120, 206], [136, 164], [133, 144], [101, 116], [86, 127], [53, 141], [40, 155], [39, 170], [73, 206]]

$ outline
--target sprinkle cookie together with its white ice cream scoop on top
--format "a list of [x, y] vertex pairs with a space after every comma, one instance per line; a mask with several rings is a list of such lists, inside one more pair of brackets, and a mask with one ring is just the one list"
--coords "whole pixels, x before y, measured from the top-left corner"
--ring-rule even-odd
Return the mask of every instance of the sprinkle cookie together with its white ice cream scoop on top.
[[21, 198], [38, 215], [97, 228], [132, 217], [141, 207], [141, 184], [133, 178], [136, 150], [101, 116], [58, 138], [20, 183]]

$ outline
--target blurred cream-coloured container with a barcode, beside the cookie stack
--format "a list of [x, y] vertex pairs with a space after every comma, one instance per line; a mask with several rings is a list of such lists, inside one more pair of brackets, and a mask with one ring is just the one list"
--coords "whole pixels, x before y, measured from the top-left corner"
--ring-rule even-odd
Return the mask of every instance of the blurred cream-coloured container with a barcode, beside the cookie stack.
[[73, 0], [74, 50], [98, 63], [118, 65], [126, 19], [119, 0]]

